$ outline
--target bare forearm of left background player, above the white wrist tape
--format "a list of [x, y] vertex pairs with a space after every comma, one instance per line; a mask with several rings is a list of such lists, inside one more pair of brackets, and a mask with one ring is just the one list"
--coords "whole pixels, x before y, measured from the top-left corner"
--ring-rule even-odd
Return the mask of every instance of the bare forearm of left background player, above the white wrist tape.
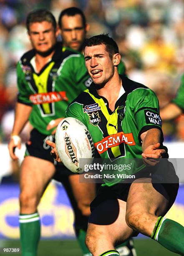
[[17, 103], [15, 107], [15, 121], [13, 125], [12, 135], [19, 135], [27, 123], [32, 107]]

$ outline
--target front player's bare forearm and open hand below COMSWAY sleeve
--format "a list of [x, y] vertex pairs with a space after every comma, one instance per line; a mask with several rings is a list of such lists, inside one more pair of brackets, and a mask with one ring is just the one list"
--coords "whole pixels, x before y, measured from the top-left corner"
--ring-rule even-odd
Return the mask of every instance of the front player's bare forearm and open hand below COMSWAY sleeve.
[[165, 149], [160, 149], [161, 131], [152, 128], [141, 134], [142, 157], [145, 164], [155, 165], [156, 159], [160, 159], [166, 153]]

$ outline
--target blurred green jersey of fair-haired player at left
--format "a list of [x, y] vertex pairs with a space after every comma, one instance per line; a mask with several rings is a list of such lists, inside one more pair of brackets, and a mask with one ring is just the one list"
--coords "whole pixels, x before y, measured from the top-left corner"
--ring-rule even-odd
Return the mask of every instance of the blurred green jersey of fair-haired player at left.
[[30, 123], [49, 135], [50, 120], [64, 117], [66, 108], [91, 84], [82, 54], [57, 43], [52, 59], [39, 73], [34, 69], [35, 51], [25, 53], [17, 65], [18, 102], [33, 107]]

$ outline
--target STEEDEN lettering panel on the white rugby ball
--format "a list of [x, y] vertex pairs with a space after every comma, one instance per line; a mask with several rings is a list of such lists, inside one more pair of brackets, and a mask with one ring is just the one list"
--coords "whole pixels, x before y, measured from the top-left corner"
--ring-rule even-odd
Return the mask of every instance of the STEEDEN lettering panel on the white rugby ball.
[[71, 162], [73, 164], [75, 164], [76, 166], [78, 166], [76, 147], [71, 142], [71, 138], [70, 138], [70, 136], [68, 136], [67, 133], [65, 133], [64, 140], [65, 140], [65, 152], [66, 152], [66, 154], [70, 158]]

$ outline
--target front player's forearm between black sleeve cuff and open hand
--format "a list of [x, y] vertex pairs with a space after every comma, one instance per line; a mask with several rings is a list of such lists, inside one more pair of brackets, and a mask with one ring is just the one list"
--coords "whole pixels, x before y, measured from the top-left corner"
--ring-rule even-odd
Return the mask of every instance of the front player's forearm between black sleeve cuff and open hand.
[[142, 151], [148, 148], [150, 145], [161, 143], [161, 131], [157, 128], [150, 129], [141, 134]]

